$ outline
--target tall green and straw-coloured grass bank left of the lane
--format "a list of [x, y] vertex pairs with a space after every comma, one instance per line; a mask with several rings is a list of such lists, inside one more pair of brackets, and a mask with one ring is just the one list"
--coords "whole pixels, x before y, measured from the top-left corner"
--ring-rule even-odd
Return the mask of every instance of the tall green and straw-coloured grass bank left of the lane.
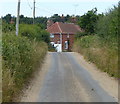
[[4, 33], [2, 43], [3, 101], [10, 102], [42, 63], [47, 44], [14, 33]]

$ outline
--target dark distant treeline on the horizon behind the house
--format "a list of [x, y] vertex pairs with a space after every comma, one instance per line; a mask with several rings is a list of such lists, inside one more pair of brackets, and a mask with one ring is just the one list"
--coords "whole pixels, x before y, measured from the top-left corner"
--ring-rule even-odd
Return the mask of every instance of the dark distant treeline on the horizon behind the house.
[[[58, 15], [54, 14], [51, 17], [36, 17], [35, 18], [35, 24], [40, 25], [43, 29], [47, 26], [47, 20], [51, 19], [53, 22], [77, 22], [79, 16], [70, 16], [70, 15]], [[4, 23], [7, 24], [15, 24], [16, 23], [16, 17], [12, 16], [11, 14], [7, 14], [6, 16], [2, 17], [2, 20]], [[32, 24], [33, 18], [32, 17], [25, 17], [24, 15], [20, 15], [20, 24]]]

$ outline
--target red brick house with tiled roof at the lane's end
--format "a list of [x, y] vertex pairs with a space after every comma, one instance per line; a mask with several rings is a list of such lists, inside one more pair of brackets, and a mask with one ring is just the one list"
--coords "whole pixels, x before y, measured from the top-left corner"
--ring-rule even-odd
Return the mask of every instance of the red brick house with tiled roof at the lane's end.
[[55, 22], [47, 31], [50, 33], [51, 44], [57, 47], [57, 51], [69, 51], [74, 43], [74, 35], [81, 32], [81, 28], [74, 23]]

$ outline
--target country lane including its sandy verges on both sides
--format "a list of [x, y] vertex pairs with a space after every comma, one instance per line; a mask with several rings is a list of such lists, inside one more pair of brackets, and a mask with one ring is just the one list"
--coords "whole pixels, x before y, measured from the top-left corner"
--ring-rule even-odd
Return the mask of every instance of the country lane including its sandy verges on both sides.
[[74, 52], [48, 52], [19, 102], [117, 102], [118, 81]]

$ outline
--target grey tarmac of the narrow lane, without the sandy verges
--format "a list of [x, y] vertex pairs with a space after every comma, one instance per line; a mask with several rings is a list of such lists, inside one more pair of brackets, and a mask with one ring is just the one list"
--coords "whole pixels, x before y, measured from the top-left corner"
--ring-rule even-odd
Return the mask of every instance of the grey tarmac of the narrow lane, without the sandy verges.
[[[49, 52], [37, 102], [117, 102], [69, 52]], [[106, 82], [109, 83], [109, 82]]]

